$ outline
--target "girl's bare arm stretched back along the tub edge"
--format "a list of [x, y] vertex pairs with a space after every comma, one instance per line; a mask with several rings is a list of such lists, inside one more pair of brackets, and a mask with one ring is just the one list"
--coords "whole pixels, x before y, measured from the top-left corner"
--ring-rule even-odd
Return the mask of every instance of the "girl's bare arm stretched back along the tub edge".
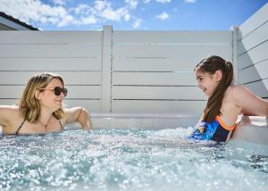
[[268, 116], [268, 101], [253, 94], [246, 87], [236, 86], [233, 93], [242, 114]]

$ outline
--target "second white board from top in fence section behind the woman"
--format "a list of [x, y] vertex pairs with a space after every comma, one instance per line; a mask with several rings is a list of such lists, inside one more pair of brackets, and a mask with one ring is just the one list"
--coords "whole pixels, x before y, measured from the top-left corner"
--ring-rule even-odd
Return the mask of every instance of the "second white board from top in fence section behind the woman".
[[100, 57], [100, 45], [0, 45], [0, 57]]

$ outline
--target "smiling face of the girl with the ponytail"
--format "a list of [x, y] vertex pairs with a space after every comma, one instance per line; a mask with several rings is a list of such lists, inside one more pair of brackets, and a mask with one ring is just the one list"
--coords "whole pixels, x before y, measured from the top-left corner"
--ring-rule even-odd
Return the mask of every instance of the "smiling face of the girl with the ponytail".
[[214, 74], [209, 74], [200, 70], [195, 71], [197, 87], [202, 89], [208, 97], [214, 93], [214, 89], [218, 86], [222, 79], [222, 72], [216, 71]]

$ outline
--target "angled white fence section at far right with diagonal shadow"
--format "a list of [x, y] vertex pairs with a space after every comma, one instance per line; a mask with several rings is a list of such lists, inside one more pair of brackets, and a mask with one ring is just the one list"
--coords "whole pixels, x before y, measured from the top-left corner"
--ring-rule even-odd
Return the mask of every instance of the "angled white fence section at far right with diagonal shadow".
[[268, 99], [268, 4], [239, 27], [239, 83]]

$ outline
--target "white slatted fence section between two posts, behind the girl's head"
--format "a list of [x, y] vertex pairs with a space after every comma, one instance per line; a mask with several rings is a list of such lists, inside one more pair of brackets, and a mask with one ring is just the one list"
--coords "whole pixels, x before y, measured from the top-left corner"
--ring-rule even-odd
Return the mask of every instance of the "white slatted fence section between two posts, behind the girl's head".
[[231, 31], [113, 31], [112, 112], [201, 112], [194, 67], [232, 60]]

